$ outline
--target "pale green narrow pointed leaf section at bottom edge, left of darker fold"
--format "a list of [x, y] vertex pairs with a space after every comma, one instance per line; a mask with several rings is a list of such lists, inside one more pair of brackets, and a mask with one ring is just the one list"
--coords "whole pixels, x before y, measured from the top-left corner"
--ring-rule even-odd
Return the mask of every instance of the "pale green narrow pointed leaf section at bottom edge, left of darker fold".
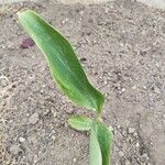
[[103, 165], [101, 148], [97, 139], [96, 131], [91, 129], [89, 143], [89, 165]]

